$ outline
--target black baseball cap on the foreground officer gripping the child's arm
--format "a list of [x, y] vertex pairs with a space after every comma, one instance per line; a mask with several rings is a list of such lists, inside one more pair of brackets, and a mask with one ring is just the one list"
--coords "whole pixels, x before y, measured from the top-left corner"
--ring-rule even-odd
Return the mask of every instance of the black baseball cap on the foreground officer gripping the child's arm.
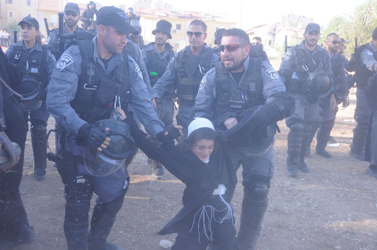
[[139, 35], [139, 30], [133, 27], [127, 14], [114, 6], [105, 6], [97, 12], [97, 25], [110, 25], [123, 34]]

